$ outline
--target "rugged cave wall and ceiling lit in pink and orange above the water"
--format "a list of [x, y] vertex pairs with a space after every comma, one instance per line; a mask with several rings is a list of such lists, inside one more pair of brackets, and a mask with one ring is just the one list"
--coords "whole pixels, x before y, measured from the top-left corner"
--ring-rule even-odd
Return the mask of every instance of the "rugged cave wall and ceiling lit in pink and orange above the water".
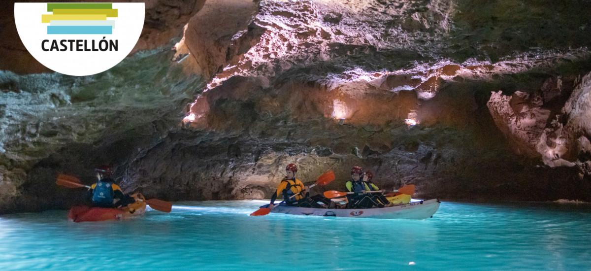
[[148, 4], [160, 49], [0, 72], [0, 212], [80, 202], [55, 176], [103, 163], [173, 201], [268, 198], [288, 163], [335, 171], [313, 193], [359, 165], [417, 198], [591, 200], [589, 2]]

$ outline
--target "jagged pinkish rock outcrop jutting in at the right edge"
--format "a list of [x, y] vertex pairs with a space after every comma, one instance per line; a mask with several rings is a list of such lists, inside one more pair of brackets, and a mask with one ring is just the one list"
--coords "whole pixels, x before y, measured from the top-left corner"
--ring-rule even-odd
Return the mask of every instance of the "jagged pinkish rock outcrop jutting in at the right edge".
[[[550, 167], [578, 167], [589, 175], [589, 80], [548, 79], [540, 92], [495, 92], [491, 114], [517, 153], [541, 157]], [[561, 107], [563, 106], [563, 107]], [[561, 108], [560, 108], [561, 107]]]

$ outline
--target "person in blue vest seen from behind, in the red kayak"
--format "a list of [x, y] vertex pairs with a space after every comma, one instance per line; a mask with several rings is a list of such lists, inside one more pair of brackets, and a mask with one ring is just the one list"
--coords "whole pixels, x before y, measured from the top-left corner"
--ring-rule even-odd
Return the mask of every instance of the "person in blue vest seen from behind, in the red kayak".
[[111, 166], [100, 166], [95, 172], [98, 181], [86, 193], [86, 199], [92, 207], [118, 208], [135, 202], [133, 197], [124, 195], [121, 188], [113, 183]]

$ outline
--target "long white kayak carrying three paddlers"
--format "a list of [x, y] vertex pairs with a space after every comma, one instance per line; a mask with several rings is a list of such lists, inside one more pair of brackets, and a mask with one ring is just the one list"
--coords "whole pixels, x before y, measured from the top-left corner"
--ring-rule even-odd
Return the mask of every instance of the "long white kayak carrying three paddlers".
[[[275, 206], [271, 212], [290, 215], [320, 215], [322, 217], [359, 217], [381, 219], [424, 220], [430, 218], [439, 209], [439, 199], [415, 201], [394, 207], [371, 209], [321, 209], [287, 206], [284, 203]], [[268, 208], [262, 205], [261, 208]]]

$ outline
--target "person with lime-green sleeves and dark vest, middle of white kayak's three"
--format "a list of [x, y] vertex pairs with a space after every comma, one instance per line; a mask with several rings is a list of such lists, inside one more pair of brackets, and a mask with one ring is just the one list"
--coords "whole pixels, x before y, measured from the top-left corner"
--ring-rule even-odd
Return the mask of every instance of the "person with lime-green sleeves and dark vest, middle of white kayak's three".
[[372, 207], [384, 207], [379, 201], [376, 201], [372, 197], [371, 194], [366, 194], [366, 191], [371, 191], [368, 185], [361, 180], [361, 175], [363, 170], [361, 167], [354, 166], [351, 169], [351, 179], [345, 183], [347, 190], [349, 192], [355, 192], [353, 194], [347, 195], [347, 199], [349, 200], [348, 207], [349, 209], [366, 209]]

